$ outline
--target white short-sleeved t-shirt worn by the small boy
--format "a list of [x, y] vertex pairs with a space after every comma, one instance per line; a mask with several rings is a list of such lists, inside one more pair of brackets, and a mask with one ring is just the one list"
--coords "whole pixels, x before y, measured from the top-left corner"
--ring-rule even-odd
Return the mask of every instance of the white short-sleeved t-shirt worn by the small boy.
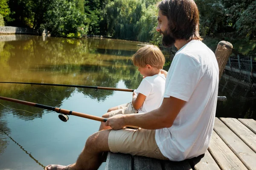
[[165, 80], [163, 74], [145, 77], [136, 93], [141, 93], [146, 96], [143, 105], [138, 109], [138, 113], [146, 113], [160, 107], [164, 94]]

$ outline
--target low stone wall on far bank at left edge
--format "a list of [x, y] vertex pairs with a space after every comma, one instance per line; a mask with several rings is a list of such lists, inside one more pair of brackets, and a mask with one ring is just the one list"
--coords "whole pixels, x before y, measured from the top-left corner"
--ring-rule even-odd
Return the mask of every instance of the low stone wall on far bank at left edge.
[[0, 26], [0, 34], [35, 34], [32, 28]]

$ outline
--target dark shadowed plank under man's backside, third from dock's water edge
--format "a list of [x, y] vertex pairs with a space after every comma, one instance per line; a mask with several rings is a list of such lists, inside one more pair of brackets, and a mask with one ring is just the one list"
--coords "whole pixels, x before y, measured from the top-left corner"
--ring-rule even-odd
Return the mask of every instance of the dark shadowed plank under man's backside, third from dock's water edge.
[[189, 161], [162, 161], [163, 170], [192, 170]]

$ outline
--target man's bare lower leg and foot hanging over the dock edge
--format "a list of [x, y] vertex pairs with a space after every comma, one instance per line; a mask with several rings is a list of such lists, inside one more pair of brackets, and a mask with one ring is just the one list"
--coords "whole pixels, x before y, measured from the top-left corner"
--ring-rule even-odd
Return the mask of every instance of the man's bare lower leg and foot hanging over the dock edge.
[[[79, 155], [75, 164], [72, 164], [68, 170], [97, 170], [102, 164], [102, 153], [110, 151], [108, 147], [108, 135], [111, 130], [102, 130], [91, 135]], [[58, 165], [57, 170], [64, 170], [66, 166]], [[45, 170], [52, 170], [51, 166], [45, 167]]]

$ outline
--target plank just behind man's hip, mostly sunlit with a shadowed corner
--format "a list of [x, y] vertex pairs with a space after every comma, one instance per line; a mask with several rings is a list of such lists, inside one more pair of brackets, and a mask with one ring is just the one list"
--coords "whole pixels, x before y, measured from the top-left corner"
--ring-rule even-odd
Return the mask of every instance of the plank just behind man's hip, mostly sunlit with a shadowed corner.
[[195, 170], [220, 170], [208, 150], [205, 154], [190, 159], [190, 164]]

